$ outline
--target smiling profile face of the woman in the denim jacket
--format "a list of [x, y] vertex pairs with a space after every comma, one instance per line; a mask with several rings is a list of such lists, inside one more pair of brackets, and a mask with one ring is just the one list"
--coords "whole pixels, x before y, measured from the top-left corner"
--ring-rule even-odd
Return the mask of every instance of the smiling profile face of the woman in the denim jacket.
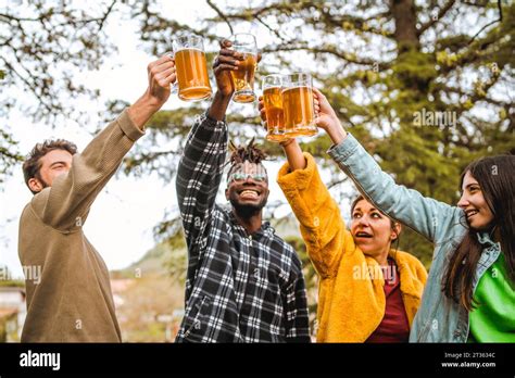
[[462, 198], [457, 205], [465, 212], [467, 223], [474, 230], [489, 229], [493, 222], [493, 213], [488, 206], [481, 187], [467, 171], [463, 177]]

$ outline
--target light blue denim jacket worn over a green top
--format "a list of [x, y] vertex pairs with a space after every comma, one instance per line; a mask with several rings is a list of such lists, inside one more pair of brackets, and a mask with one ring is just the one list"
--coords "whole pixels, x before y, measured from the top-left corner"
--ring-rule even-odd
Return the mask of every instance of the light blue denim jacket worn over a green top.
[[[466, 342], [468, 312], [442, 292], [442, 276], [468, 231], [465, 213], [418, 191], [397, 185], [352, 136], [331, 147], [329, 155], [354, 181], [360, 192], [388, 216], [426, 237], [435, 245], [431, 268], [422, 304], [413, 320], [410, 342]], [[488, 232], [478, 234], [483, 250], [476, 268], [474, 290], [482, 274], [495, 262], [501, 248]]]

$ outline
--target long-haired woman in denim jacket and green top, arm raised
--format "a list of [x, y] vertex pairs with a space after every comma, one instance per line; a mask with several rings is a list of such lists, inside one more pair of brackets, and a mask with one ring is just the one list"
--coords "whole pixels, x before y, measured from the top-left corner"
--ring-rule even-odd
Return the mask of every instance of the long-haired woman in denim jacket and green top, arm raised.
[[473, 162], [457, 206], [395, 185], [315, 91], [329, 155], [361, 193], [435, 245], [411, 342], [515, 342], [515, 156]]

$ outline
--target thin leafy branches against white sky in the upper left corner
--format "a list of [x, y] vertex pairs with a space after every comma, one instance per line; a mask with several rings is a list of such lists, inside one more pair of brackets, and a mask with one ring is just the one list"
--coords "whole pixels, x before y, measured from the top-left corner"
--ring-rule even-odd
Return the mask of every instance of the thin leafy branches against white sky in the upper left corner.
[[[109, 1], [109, 0], [106, 0]], [[76, 70], [95, 70], [114, 48], [103, 32], [115, 2], [28, 1], [0, 10], [0, 117], [20, 110], [35, 121], [55, 125], [89, 119], [71, 99], [97, 98], [78, 84]], [[23, 94], [23, 96], [22, 96]], [[0, 125], [0, 184], [22, 159], [17, 141]], [[14, 126], [12, 126], [14, 127]]]

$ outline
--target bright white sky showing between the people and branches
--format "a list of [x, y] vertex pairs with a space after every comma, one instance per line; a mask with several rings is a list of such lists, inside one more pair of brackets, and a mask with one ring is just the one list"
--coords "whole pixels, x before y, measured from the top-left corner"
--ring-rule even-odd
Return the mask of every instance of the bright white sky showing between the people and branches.
[[[173, 12], [174, 17], [179, 21], [194, 21], [200, 13], [205, 16], [211, 12], [203, 0], [174, 2], [173, 10], [165, 11]], [[77, 76], [77, 80], [86, 83], [88, 88], [101, 90], [98, 101], [80, 104], [91, 109], [92, 113], [102, 109], [109, 99], [134, 102], [147, 88], [147, 64], [155, 59], [138, 48], [135, 28], [127, 20], [111, 20], [106, 27], [118, 53], [111, 56], [109, 63], [98, 72]], [[17, 94], [23, 98], [23, 92]], [[185, 103], [174, 96], [163, 109], [179, 105], [184, 106]], [[204, 105], [208, 106], [209, 101]], [[256, 109], [253, 111], [258, 112]], [[90, 125], [85, 128], [74, 122], [66, 122], [62, 127], [52, 129], [43, 123], [35, 124], [20, 112], [12, 112], [8, 125], [15, 140], [20, 141], [20, 151], [24, 154], [35, 143], [48, 138], [70, 139], [77, 143], [79, 150], [91, 140], [87, 131], [91, 130]], [[280, 162], [267, 163], [268, 176], [273, 178], [269, 201], [282, 199], [275, 182], [279, 165]], [[17, 256], [20, 214], [30, 198], [21, 166], [17, 166], [7, 180], [4, 190], [0, 191], [0, 266], [8, 265], [15, 277], [23, 276]], [[225, 202], [225, 199], [219, 198], [219, 201]], [[110, 269], [123, 268], [139, 260], [154, 245], [152, 227], [163, 219], [165, 209], [177, 209], [175, 182], [163, 185], [155, 175], [139, 180], [120, 175], [111, 179], [93, 203], [84, 230]], [[288, 212], [289, 207], [284, 206], [277, 215]]]

